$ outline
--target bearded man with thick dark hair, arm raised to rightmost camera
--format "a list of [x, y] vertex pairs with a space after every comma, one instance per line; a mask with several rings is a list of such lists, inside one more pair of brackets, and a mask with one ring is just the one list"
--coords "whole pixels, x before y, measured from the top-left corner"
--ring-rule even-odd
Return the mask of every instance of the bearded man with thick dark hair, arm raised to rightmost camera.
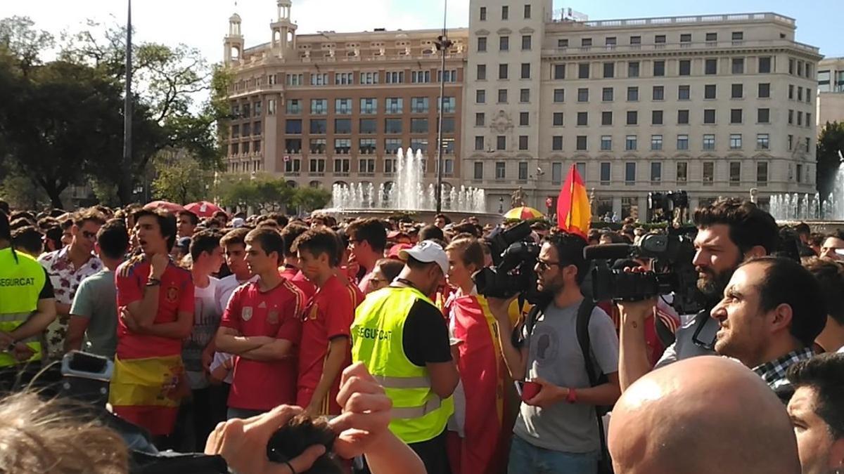
[[[684, 358], [714, 354], [711, 348], [718, 330], [710, 311], [722, 299], [724, 288], [738, 265], [749, 257], [766, 256], [776, 250], [779, 240], [776, 221], [752, 202], [722, 198], [695, 210], [695, 258], [697, 288], [704, 309], [683, 318], [676, 341], [659, 359], [656, 369]], [[644, 320], [652, 314], [654, 299], [619, 303], [619, 380], [624, 391], [651, 371], [647, 358]], [[695, 332], [697, 333], [695, 336]]]

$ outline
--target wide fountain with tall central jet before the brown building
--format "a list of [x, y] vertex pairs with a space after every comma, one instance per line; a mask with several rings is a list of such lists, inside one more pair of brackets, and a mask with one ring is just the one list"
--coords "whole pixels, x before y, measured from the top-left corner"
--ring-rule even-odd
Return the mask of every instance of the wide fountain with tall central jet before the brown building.
[[[425, 157], [421, 150], [399, 148], [396, 152], [395, 181], [373, 186], [372, 183], [350, 183], [332, 186], [332, 207], [322, 209], [321, 213], [337, 213], [353, 216], [356, 214], [391, 214], [391, 213], [433, 213], [436, 209], [436, 186], [425, 186], [423, 164]], [[443, 184], [442, 212], [477, 215], [500, 219], [498, 214], [485, 213], [486, 198], [484, 190], [460, 186], [455, 188]]]

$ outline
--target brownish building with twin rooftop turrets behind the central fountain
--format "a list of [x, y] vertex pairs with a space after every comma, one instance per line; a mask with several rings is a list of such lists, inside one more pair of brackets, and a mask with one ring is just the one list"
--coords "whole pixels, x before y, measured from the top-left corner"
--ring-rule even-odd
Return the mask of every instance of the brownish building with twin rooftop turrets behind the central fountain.
[[[421, 149], [436, 182], [440, 30], [297, 35], [279, 0], [270, 41], [246, 48], [235, 13], [225, 36], [234, 118], [227, 168], [282, 175], [290, 186], [392, 185], [398, 148]], [[467, 30], [449, 30], [442, 121], [443, 181], [459, 186]]]

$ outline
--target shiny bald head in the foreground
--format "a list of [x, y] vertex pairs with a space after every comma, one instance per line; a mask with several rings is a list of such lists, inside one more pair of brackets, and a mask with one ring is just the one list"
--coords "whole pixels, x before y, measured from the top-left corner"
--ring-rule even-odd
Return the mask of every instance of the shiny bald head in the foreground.
[[630, 385], [609, 423], [616, 474], [799, 474], [782, 402], [743, 365], [695, 357]]

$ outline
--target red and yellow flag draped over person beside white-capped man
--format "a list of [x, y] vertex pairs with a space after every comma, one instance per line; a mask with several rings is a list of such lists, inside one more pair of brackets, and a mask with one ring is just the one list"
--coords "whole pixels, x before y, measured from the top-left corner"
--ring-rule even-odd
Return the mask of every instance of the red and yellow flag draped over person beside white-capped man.
[[452, 299], [449, 308], [459, 347], [457, 368], [466, 396], [461, 453], [462, 474], [500, 471], [504, 449], [505, 366], [500, 358], [498, 325], [483, 296]]

